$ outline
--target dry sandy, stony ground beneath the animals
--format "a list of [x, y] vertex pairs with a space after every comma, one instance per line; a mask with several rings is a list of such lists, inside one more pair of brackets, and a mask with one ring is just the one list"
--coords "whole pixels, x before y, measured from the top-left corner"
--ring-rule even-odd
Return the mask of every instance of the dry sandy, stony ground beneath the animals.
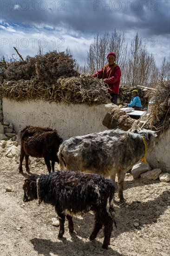
[[[11, 148], [13, 147], [13, 148]], [[10, 149], [11, 148], [11, 149]], [[58, 239], [59, 227], [51, 205], [23, 202], [24, 174], [18, 172], [20, 146], [16, 141], [0, 142], [0, 255], [1, 256], [169, 256], [170, 183], [133, 180], [124, 182], [126, 203], [115, 196], [117, 229], [113, 227], [108, 250], [102, 249], [103, 232], [89, 241], [94, 223], [92, 212], [74, 218], [75, 232]], [[57, 168], [56, 164], [56, 168]], [[31, 158], [31, 172], [47, 173], [41, 159]]]

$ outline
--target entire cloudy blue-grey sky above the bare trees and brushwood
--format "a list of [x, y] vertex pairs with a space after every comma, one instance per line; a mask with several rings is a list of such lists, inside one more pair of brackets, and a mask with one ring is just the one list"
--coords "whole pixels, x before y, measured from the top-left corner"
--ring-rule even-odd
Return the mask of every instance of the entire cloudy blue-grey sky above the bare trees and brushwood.
[[68, 47], [84, 65], [94, 35], [115, 28], [129, 46], [138, 32], [157, 65], [170, 61], [170, 0], [1, 0], [0, 57]]

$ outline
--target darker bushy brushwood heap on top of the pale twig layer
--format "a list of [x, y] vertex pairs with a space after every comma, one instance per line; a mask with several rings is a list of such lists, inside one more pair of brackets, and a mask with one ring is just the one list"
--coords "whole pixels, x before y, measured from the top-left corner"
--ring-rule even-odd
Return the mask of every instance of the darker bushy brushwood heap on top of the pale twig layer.
[[76, 61], [71, 54], [52, 51], [44, 55], [36, 55], [27, 58], [26, 61], [14, 61], [7, 63], [0, 61], [0, 69], [3, 71], [6, 81], [31, 80], [37, 78], [39, 82], [47, 85], [53, 84], [61, 75], [66, 77], [76, 76]]

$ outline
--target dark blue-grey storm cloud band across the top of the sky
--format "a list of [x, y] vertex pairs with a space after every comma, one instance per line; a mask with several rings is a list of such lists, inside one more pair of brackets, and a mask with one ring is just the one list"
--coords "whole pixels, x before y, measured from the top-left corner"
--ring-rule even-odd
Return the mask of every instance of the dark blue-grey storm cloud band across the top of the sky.
[[1, 19], [8, 23], [75, 31], [79, 34], [135, 30], [147, 35], [168, 35], [169, 0], [1, 0]]

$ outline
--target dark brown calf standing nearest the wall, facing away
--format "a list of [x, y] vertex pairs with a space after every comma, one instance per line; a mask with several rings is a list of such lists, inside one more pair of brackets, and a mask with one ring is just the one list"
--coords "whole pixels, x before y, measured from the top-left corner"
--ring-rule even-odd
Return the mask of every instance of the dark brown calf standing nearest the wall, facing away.
[[[54, 171], [55, 162], [59, 163], [57, 156], [59, 145], [63, 139], [52, 128], [27, 126], [21, 131], [21, 153], [19, 171], [23, 172], [22, 162], [25, 156], [26, 171], [29, 171], [28, 158], [44, 157], [48, 172]], [[50, 163], [52, 161], [52, 164]]]

